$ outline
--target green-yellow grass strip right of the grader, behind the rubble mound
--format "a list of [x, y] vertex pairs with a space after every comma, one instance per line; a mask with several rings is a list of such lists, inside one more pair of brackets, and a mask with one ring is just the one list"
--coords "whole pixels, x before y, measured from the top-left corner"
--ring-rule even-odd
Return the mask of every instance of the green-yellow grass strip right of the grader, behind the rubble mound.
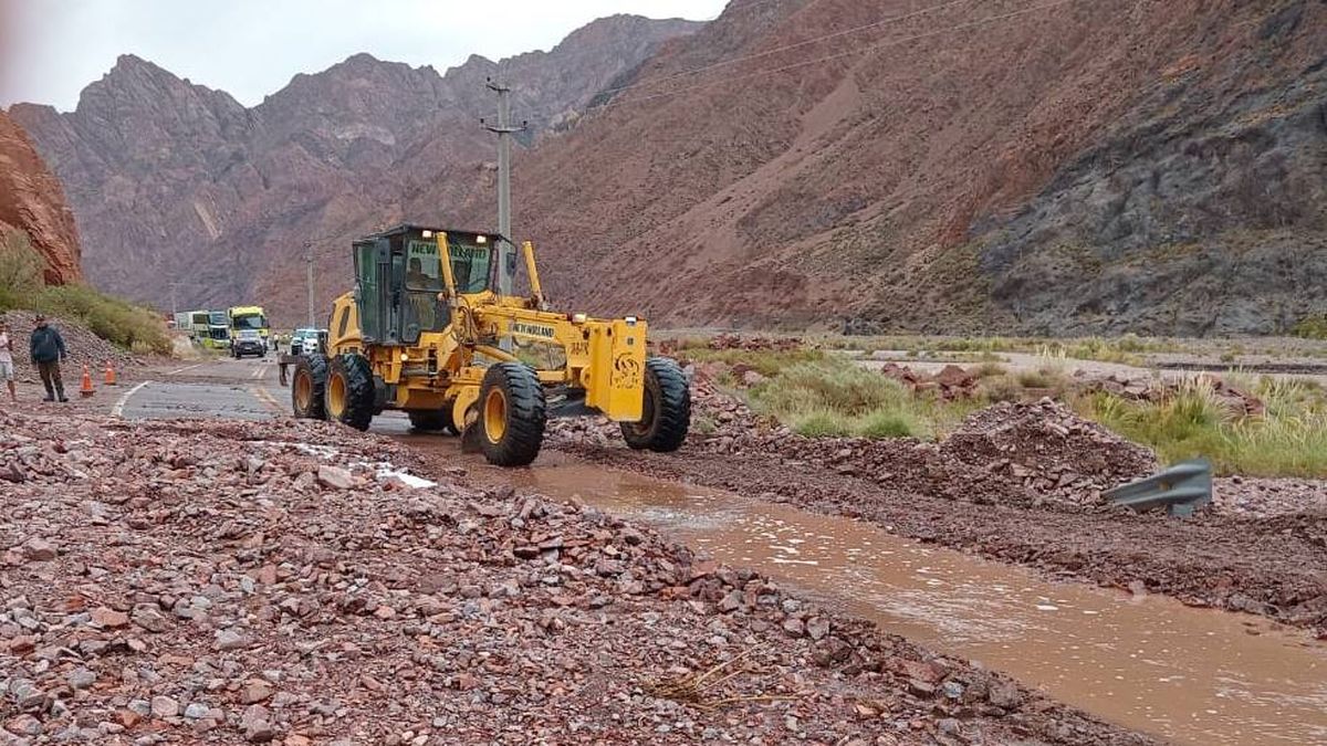
[[[1120, 349], [1115, 346], [1113, 349]], [[1035, 370], [1007, 370], [986, 361], [970, 365], [971, 396], [946, 400], [908, 385], [835, 352], [711, 350], [691, 345], [695, 362], [721, 362], [721, 385], [759, 414], [807, 437], [859, 435], [938, 439], [970, 413], [1002, 401], [1051, 397], [1116, 434], [1147, 445], [1165, 463], [1204, 457], [1218, 474], [1249, 477], [1327, 477], [1327, 392], [1312, 381], [1225, 376], [1226, 384], [1257, 397], [1262, 414], [1234, 411], [1210, 380], [1189, 377], [1154, 401], [1087, 390], [1072, 374], [1072, 348], [1040, 349]], [[733, 370], [756, 370], [743, 386]]]

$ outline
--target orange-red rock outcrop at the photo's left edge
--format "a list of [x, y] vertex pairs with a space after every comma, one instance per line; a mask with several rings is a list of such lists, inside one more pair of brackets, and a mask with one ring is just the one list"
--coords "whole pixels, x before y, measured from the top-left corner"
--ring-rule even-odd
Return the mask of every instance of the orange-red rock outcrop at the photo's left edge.
[[78, 231], [60, 182], [28, 134], [0, 112], [0, 236], [23, 231], [46, 261], [48, 284], [82, 279]]

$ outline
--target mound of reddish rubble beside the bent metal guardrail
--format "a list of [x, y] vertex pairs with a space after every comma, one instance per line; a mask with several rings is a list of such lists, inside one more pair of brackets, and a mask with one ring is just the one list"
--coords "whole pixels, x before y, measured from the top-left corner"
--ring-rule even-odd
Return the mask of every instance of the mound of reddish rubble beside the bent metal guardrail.
[[942, 457], [1006, 475], [1035, 494], [1082, 504], [1157, 469], [1152, 450], [1043, 398], [969, 415], [940, 443]]

